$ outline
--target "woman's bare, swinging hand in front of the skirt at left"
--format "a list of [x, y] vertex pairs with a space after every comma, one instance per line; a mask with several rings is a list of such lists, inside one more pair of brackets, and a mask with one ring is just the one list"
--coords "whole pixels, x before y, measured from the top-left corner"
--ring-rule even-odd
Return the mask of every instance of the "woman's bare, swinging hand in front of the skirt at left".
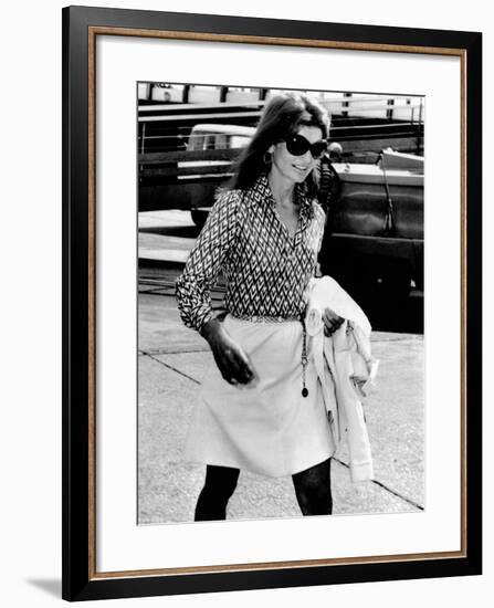
[[208, 340], [218, 368], [231, 385], [246, 385], [254, 377], [254, 368], [246, 353], [230, 337], [218, 318], [204, 323], [202, 336]]

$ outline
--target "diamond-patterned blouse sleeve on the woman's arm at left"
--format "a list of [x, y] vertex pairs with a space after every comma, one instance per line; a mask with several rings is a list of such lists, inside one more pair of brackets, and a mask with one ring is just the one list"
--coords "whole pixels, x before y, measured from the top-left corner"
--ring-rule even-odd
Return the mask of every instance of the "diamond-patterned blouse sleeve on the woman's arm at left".
[[237, 239], [238, 190], [222, 191], [176, 282], [180, 317], [187, 327], [201, 331], [212, 316], [210, 290]]

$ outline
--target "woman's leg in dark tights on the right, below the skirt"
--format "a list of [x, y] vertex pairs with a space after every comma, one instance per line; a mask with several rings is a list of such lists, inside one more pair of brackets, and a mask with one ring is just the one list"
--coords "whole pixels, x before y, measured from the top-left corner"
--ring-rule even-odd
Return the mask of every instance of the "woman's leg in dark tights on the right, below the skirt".
[[333, 512], [330, 459], [292, 475], [298, 506], [304, 515]]

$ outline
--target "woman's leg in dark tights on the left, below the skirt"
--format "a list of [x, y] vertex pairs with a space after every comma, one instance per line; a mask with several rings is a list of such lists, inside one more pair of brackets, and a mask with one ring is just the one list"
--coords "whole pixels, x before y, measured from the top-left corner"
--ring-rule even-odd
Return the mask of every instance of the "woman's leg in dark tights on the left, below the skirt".
[[227, 503], [237, 488], [240, 470], [208, 464], [204, 486], [196, 505], [196, 522], [227, 518]]

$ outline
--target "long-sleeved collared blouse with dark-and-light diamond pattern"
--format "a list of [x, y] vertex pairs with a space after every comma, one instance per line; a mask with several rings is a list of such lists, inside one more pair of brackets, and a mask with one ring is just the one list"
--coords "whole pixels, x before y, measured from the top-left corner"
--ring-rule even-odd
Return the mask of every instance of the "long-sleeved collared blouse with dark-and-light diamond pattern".
[[222, 191], [176, 283], [178, 308], [188, 327], [201, 329], [214, 316], [210, 289], [220, 270], [227, 279], [224, 305], [239, 318], [301, 318], [314, 276], [325, 226], [319, 205], [295, 185], [299, 206], [290, 235], [276, 211], [267, 176], [246, 190]]

